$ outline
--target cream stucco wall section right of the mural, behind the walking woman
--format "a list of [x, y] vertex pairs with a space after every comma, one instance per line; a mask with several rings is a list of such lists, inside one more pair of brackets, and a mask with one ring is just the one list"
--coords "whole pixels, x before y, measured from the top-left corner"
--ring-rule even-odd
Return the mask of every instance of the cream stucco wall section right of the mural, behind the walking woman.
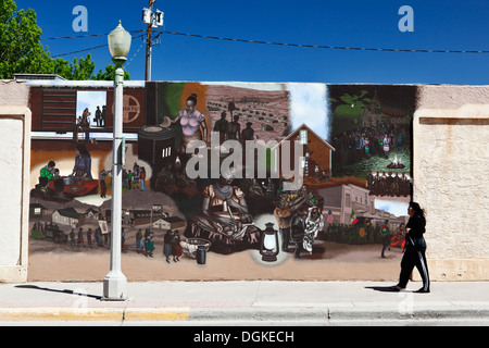
[[489, 88], [421, 86], [414, 200], [427, 213], [434, 279], [489, 278]]

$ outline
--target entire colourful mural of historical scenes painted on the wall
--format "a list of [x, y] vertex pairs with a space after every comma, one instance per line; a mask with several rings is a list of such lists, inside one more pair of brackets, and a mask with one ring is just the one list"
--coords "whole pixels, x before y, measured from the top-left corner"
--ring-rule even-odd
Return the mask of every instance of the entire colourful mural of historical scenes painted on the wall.
[[[37, 86], [30, 108], [29, 252], [109, 252], [113, 90]], [[414, 109], [411, 86], [126, 88], [123, 251], [168, 264], [399, 258]]]

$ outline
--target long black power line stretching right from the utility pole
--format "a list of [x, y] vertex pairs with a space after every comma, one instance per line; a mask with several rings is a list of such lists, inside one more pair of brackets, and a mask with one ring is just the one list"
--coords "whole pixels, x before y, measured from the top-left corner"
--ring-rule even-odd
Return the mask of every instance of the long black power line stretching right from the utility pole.
[[366, 47], [340, 47], [340, 46], [322, 46], [322, 45], [305, 45], [305, 44], [284, 44], [273, 41], [261, 40], [248, 40], [248, 39], [235, 39], [228, 37], [217, 37], [208, 35], [186, 34], [164, 30], [163, 34], [187, 36], [193, 38], [213, 39], [222, 41], [234, 41], [244, 44], [259, 44], [259, 45], [272, 45], [272, 46], [285, 46], [285, 47], [300, 47], [300, 48], [314, 48], [314, 49], [331, 49], [331, 50], [351, 50], [351, 51], [379, 51], [379, 52], [414, 52], [414, 53], [489, 53], [489, 51], [476, 51], [476, 50], [418, 50], [418, 49], [393, 49], [393, 48], [366, 48]]

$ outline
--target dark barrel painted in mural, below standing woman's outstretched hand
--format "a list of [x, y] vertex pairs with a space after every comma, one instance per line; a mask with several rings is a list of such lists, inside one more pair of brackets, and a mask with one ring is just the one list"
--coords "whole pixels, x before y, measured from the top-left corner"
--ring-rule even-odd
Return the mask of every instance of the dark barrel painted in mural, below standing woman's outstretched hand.
[[160, 125], [142, 126], [138, 132], [138, 158], [159, 170], [175, 160], [175, 130]]

